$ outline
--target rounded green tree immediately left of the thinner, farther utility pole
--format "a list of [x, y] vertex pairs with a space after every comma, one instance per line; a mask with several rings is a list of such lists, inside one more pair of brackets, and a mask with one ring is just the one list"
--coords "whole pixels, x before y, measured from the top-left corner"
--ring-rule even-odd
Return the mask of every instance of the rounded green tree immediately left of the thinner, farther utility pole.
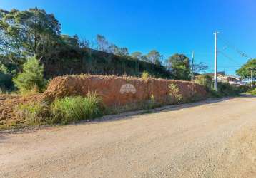
[[189, 80], [190, 79], [190, 61], [184, 54], [174, 54], [168, 60], [168, 70], [172, 73], [174, 79]]

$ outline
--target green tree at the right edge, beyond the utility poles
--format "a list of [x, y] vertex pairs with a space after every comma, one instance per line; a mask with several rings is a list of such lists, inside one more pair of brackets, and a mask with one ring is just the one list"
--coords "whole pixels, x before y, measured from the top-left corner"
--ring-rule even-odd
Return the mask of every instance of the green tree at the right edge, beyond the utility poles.
[[239, 75], [242, 79], [251, 78], [251, 70], [254, 78], [256, 78], [256, 59], [251, 59], [247, 61], [239, 70], [236, 71], [237, 75]]

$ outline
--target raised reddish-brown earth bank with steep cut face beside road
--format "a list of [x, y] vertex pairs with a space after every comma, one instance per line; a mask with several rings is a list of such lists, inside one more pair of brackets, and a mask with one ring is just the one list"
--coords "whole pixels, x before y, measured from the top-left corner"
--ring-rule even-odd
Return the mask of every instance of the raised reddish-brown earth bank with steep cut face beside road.
[[205, 89], [192, 82], [148, 78], [117, 77], [102, 75], [70, 75], [51, 80], [49, 87], [42, 94], [45, 100], [64, 98], [70, 95], [87, 95], [96, 92], [108, 106], [125, 105], [149, 100], [166, 98], [170, 93], [169, 85], [175, 84], [183, 100], [195, 96], [206, 98]]

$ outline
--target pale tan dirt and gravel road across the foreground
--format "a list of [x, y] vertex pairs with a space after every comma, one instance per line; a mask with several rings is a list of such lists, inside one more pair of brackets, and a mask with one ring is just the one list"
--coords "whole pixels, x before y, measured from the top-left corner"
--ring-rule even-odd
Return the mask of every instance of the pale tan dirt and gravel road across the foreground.
[[256, 177], [256, 98], [3, 132], [0, 177]]

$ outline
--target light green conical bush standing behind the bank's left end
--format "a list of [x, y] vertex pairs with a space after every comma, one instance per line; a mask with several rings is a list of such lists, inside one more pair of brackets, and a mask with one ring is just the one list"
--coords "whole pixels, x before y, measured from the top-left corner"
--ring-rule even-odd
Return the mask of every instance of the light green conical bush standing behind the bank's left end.
[[30, 93], [31, 90], [41, 92], [46, 86], [44, 80], [44, 67], [40, 65], [35, 57], [29, 58], [23, 66], [23, 72], [13, 79], [14, 85], [21, 93]]

